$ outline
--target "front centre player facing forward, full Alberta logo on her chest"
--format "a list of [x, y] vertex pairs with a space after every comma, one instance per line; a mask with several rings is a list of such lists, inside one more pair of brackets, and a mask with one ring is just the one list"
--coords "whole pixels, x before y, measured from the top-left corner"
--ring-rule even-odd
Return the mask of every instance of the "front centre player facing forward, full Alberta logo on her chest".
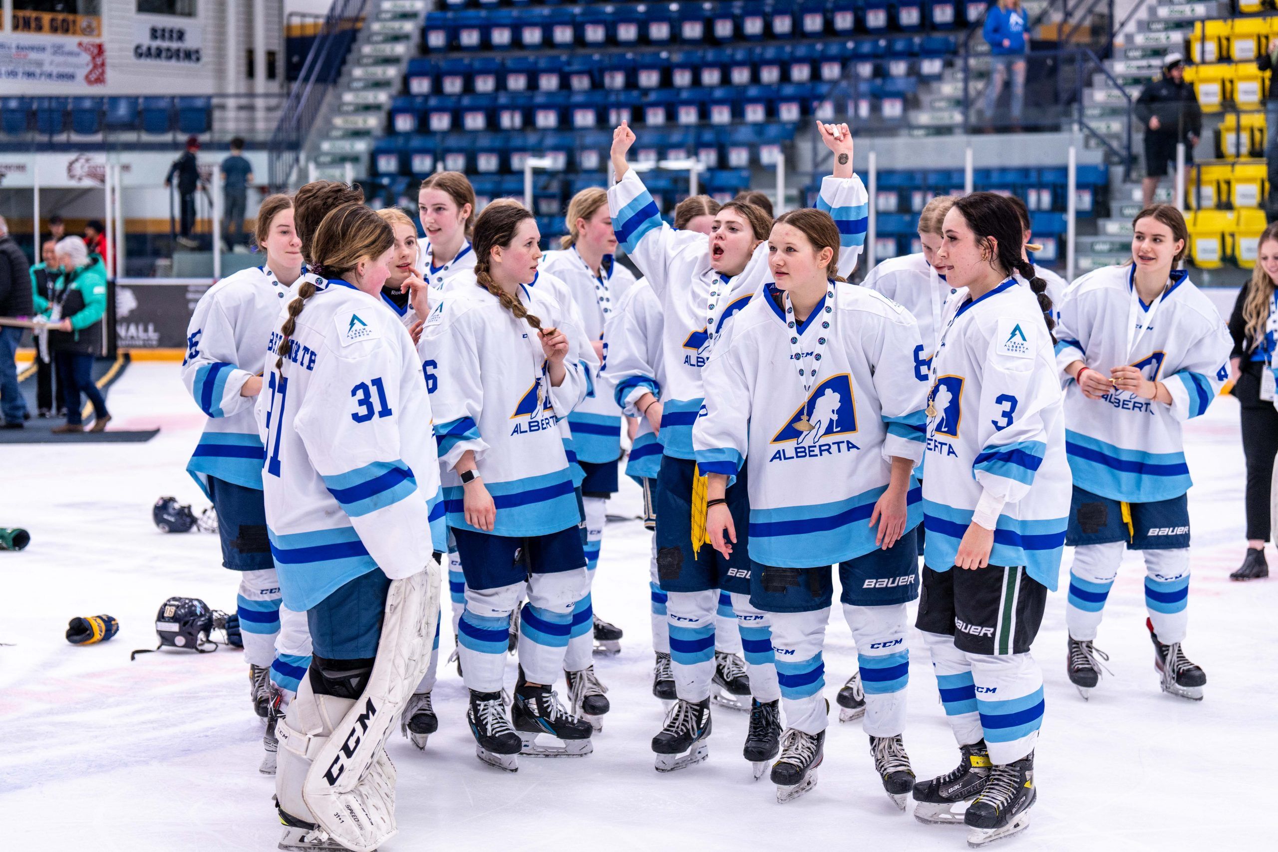
[[[768, 613], [786, 711], [777, 800], [817, 783], [828, 704], [824, 687], [831, 565], [859, 650], [865, 732], [888, 796], [914, 788], [905, 728], [906, 607], [918, 597], [927, 383], [915, 376], [919, 328], [901, 305], [838, 278], [840, 232], [818, 209], [772, 226], [776, 281], [716, 346], [693, 428], [709, 474], [705, 530], [731, 558], [737, 533], [728, 482], [749, 471], [750, 603]], [[744, 533], [745, 530], [740, 530]], [[743, 542], [744, 543], [744, 542]]]

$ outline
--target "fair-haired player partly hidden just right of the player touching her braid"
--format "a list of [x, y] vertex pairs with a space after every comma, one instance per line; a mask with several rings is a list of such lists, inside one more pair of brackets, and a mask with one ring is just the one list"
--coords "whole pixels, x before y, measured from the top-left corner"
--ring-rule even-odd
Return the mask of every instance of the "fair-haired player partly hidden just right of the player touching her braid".
[[[615, 305], [634, 286], [635, 278], [615, 257], [617, 238], [612, 231], [612, 216], [608, 215], [607, 192], [592, 186], [576, 193], [569, 202], [564, 224], [567, 234], [561, 239], [562, 250], [551, 252], [542, 268], [567, 285], [585, 323], [585, 335], [602, 364], [607, 350], [604, 326]], [[599, 373], [592, 376], [590, 381], [585, 400], [567, 418], [578, 464], [585, 473], [581, 502], [588, 535], [588, 582], [593, 581], [599, 563], [604, 510], [608, 498], [617, 491], [617, 466], [621, 460], [621, 409], [612, 399], [612, 384]], [[607, 653], [621, 650], [620, 628], [594, 614], [589, 595], [584, 607], [578, 617], [584, 618], [584, 613], [590, 613], [593, 644]], [[567, 660], [569, 671], [574, 671], [574, 666], [584, 669], [589, 664], [585, 651], [590, 645], [592, 640], [584, 636], [569, 643], [569, 657], [573, 658]]]

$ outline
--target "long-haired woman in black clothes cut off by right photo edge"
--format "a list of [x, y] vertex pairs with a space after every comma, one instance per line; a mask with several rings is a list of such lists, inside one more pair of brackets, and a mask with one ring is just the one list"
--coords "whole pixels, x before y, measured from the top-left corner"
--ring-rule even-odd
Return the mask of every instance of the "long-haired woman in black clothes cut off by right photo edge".
[[1229, 314], [1233, 391], [1242, 409], [1242, 455], [1247, 460], [1243, 505], [1247, 513], [1247, 556], [1233, 580], [1269, 576], [1269, 489], [1278, 456], [1278, 410], [1274, 409], [1273, 363], [1278, 333], [1278, 224], [1260, 235], [1251, 280], [1238, 291]]

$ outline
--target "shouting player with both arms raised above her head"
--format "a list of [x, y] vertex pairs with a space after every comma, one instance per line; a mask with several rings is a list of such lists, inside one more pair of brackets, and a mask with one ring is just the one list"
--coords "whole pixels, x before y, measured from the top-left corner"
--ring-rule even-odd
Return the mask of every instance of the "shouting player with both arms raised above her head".
[[[852, 141], [846, 125], [818, 123], [835, 153], [835, 176], [822, 185], [819, 204], [831, 209], [842, 234], [840, 268], [850, 272], [865, 238], [865, 188], [852, 174]], [[671, 663], [679, 700], [662, 731], [653, 737], [657, 769], [670, 772], [704, 760], [711, 732], [709, 691], [714, 669], [714, 617], [722, 589], [732, 598], [743, 636], [754, 703], [743, 750], [762, 764], [780, 751], [780, 688], [772, 664], [767, 614], [749, 602], [749, 563], [702, 553], [704, 529], [693, 530], [693, 501], [704, 497], [693, 452], [691, 427], [702, 407], [702, 367], [727, 322], [768, 278], [767, 249], [760, 248], [771, 222], [751, 204], [731, 202], [714, 217], [707, 239], [665, 225], [643, 181], [626, 164], [635, 135], [626, 124], [613, 132], [612, 167], [617, 183], [608, 190], [608, 208], [617, 236], [644, 273], [662, 304], [662, 351], [667, 373], [661, 414], [662, 466], [657, 497], [657, 568], [667, 594]], [[640, 399], [639, 405], [648, 401]], [[745, 529], [748, 497], [744, 482], [728, 489], [734, 521]], [[697, 510], [700, 526], [704, 511]], [[751, 651], [750, 649], [754, 649]], [[751, 662], [753, 657], [753, 662]]]

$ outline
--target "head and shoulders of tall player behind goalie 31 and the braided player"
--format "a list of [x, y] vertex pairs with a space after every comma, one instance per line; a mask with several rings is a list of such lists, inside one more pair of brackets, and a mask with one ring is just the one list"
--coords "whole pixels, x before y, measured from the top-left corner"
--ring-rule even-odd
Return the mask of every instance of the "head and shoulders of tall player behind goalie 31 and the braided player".
[[417, 213], [426, 231], [426, 250], [418, 271], [432, 287], [458, 272], [474, 268], [470, 230], [475, 217], [475, 190], [460, 171], [437, 171], [422, 181]]

